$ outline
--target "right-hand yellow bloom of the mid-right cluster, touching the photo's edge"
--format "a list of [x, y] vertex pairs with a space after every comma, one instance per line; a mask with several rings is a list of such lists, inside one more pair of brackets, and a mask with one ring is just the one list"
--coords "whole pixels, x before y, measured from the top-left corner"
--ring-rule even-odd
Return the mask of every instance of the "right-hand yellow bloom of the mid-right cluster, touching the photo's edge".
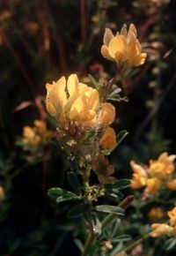
[[173, 161], [175, 160], [176, 155], [168, 153], [160, 154], [158, 160], [150, 160], [149, 173], [151, 177], [164, 178], [167, 175], [172, 174], [174, 170]]

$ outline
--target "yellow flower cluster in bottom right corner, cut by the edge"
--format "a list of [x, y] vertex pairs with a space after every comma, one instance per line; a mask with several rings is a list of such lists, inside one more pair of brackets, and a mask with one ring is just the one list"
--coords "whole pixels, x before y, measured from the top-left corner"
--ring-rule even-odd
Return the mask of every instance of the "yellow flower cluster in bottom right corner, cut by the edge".
[[176, 235], [176, 207], [167, 212], [169, 216], [169, 224], [153, 223], [151, 224], [151, 237], [161, 237], [163, 235]]

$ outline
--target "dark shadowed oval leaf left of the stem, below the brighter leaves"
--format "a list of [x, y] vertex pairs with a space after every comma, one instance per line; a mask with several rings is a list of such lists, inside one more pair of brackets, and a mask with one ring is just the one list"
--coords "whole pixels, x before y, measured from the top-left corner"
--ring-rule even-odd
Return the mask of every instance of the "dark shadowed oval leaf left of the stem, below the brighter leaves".
[[75, 207], [72, 207], [68, 213], [69, 218], [77, 218], [80, 216], [84, 216], [86, 213], [91, 211], [91, 205], [90, 204], [80, 204]]

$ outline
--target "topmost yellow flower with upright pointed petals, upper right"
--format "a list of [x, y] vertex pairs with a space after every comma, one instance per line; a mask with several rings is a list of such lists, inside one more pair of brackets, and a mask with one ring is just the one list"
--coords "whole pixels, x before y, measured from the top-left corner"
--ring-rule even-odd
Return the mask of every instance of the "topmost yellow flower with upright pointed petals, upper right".
[[121, 28], [121, 34], [114, 36], [111, 29], [106, 28], [104, 44], [101, 48], [102, 56], [118, 64], [127, 61], [129, 66], [144, 64], [146, 53], [142, 53], [141, 45], [136, 38], [136, 26], [130, 24], [128, 32], [126, 25]]

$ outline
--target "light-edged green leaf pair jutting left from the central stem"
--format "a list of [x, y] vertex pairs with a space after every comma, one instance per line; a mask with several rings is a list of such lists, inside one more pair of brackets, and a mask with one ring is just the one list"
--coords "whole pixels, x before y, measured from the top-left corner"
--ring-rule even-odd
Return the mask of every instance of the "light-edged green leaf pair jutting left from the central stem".
[[68, 200], [80, 200], [75, 193], [65, 191], [60, 187], [50, 188], [48, 195], [56, 200], [57, 203]]

